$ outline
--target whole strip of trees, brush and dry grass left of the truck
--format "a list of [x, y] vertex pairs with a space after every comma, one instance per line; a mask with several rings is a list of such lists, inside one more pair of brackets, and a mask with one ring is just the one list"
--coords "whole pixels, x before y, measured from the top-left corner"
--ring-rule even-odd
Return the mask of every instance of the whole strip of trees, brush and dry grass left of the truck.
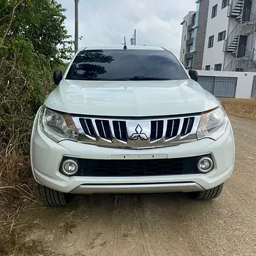
[[36, 255], [19, 238], [29, 225], [20, 216], [34, 202], [34, 116], [72, 54], [64, 11], [55, 0], [0, 0], [0, 255]]

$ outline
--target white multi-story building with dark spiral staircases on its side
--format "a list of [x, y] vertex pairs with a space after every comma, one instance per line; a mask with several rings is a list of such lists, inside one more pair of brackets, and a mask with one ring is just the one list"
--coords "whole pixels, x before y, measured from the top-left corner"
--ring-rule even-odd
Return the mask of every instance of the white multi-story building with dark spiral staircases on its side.
[[256, 71], [256, 0], [197, 0], [195, 15], [193, 68]]

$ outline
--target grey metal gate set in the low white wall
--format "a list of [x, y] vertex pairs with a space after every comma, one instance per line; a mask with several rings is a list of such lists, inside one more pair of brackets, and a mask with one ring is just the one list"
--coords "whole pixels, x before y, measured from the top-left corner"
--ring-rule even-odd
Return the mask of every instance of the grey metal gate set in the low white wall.
[[[217, 76], [203, 76], [198, 77], [198, 83], [209, 91], [211, 94], [214, 94], [216, 97], [227, 97], [234, 98], [236, 97], [236, 86], [238, 78], [232, 77], [217, 77]], [[256, 85], [256, 80], [255, 80]], [[256, 92], [256, 86], [255, 86]]]

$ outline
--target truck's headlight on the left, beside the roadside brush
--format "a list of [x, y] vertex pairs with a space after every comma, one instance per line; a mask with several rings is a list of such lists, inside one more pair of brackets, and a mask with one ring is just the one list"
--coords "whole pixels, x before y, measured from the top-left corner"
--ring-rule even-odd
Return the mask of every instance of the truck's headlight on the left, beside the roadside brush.
[[42, 132], [56, 143], [61, 140], [78, 140], [78, 129], [70, 114], [61, 113], [42, 106], [39, 126]]

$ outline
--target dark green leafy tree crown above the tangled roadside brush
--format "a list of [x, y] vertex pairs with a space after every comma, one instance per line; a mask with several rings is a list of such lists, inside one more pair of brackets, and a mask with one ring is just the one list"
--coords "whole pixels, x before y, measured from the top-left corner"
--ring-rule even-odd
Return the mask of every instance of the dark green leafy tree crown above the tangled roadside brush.
[[63, 24], [64, 11], [56, 0], [0, 0], [1, 45], [8, 47], [20, 36], [48, 61], [70, 59], [73, 42]]

